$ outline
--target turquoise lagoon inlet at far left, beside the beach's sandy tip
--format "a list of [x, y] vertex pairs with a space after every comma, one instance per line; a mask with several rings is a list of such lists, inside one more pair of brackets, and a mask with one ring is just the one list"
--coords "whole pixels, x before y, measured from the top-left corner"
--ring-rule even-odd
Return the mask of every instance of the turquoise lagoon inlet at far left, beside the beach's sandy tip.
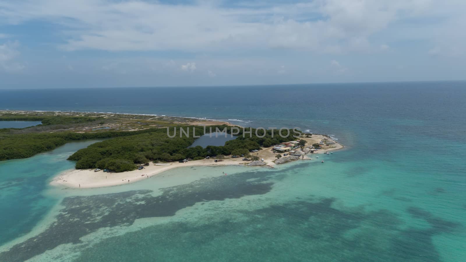
[[70, 154], [101, 140], [68, 143], [28, 159], [0, 162], [0, 244], [25, 234], [55, 205], [58, 198], [43, 190], [59, 172], [74, 168]]

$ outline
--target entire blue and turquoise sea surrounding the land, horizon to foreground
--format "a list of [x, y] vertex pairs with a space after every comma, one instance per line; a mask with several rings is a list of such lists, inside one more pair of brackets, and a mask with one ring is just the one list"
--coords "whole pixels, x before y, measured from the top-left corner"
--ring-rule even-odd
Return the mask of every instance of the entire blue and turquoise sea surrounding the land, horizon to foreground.
[[0, 261], [466, 261], [465, 101], [466, 82], [0, 90], [0, 110], [300, 127], [346, 147], [324, 165], [85, 191], [48, 182], [88, 142], [3, 161]]

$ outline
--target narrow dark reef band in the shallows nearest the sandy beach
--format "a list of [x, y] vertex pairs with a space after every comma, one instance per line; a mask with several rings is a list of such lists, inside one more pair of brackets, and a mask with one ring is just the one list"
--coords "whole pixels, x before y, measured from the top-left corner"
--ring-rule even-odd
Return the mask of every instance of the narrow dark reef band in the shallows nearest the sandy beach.
[[[270, 173], [243, 172], [237, 175], [200, 179], [187, 185], [163, 189], [159, 196], [151, 190], [136, 190], [63, 199], [64, 208], [44, 232], [0, 253], [0, 261], [25, 261], [60, 244], [79, 243], [80, 238], [99, 228], [130, 225], [138, 218], [172, 216], [197, 202], [265, 194]], [[247, 179], [254, 181], [247, 182]]]

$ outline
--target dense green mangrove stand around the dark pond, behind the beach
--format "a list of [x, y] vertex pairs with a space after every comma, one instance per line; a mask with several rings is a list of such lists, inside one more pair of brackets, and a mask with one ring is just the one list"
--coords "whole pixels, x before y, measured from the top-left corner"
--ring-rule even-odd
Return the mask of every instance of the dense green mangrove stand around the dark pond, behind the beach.
[[[212, 126], [212, 129], [215, 130], [215, 128], [232, 133], [232, 127], [230, 126]], [[272, 145], [294, 139], [293, 132], [290, 132], [287, 137], [281, 137], [278, 131], [274, 131], [274, 137], [272, 138], [272, 131], [270, 130], [266, 131], [265, 134], [263, 130], [258, 130], [258, 136], [255, 135], [254, 129], [251, 130], [252, 135], [245, 133], [244, 137], [243, 131], [240, 130], [238, 138], [227, 141], [223, 146], [187, 148], [194, 142], [194, 136], [203, 134], [201, 127], [198, 126], [195, 133], [191, 132], [189, 136], [183, 134], [181, 137], [177, 135], [173, 138], [167, 135], [165, 128], [161, 128], [150, 133], [114, 138], [89, 145], [87, 148], [75, 152], [69, 157], [69, 160], [76, 161], [77, 169], [100, 168], [123, 172], [134, 170], [137, 164], [143, 164], [151, 160], [197, 160], [204, 159], [206, 156], [247, 154], [250, 150], [260, 149], [260, 146], [264, 146], [264, 144]], [[249, 131], [249, 129], [246, 129], [246, 131]]]

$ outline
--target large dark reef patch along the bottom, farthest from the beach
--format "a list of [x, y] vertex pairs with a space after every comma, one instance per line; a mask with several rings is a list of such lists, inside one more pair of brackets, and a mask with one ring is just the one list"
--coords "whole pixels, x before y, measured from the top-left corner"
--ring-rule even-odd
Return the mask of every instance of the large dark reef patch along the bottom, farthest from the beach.
[[[432, 244], [434, 230], [404, 228], [388, 210], [338, 210], [334, 199], [285, 204], [219, 214], [213, 221], [169, 222], [105, 239], [82, 250], [77, 261], [440, 261]], [[412, 214], [435, 219], [429, 213]], [[245, 219], [246, 218], [246, 219]], [[439, 223], [430, 220], [429, 223]], [[442, 221], [447, 228], [453, 223]], [[432, 225], [432, 224], [431, 224]], [[446, 228], [442, 228], [441, 231]], [[151, 242], [141, 252], [115, 247]], [[157, 241], [153, 241], [156, 239]], [[375, 259], [376, 258], [376, 259]]]

